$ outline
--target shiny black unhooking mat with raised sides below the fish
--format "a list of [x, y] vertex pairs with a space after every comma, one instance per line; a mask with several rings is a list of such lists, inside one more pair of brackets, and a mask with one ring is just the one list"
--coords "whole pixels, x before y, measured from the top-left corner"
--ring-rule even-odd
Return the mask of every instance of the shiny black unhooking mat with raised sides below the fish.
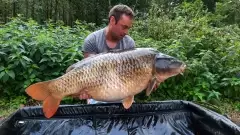
[[62, 105], [51, 119], [25, 107], [0, 123], [0, 135], [240, 135], [229, 119], [188, 101]]

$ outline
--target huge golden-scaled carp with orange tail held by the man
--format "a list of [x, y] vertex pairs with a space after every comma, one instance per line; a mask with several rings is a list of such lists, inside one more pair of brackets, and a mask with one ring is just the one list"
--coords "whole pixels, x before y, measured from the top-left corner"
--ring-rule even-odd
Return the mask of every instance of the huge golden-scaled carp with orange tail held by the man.
[[64, 97], [81, 93], [98, 101], [122, 100], [128, 109], [134, 95], [146, 90], [149, 96], [156, 84], [184, 72], [185, 67], [180, 60], [153, 48], [101, 53], [71, 65], [56, 79], [30, 85], [26, 93], [43, 101], [47, 118], [56, 113]]

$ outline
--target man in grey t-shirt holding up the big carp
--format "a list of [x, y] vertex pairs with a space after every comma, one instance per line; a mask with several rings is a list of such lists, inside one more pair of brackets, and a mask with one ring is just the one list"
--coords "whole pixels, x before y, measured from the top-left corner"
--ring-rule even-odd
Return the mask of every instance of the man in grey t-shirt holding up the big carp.
[[[126, 5], [116, 5], [109, 12], [108, 26], [88, 35], [84, 40], [82, 51], [84, 58], [90, 55], [108, 52], [110, 50], [125, 50], [135, 48], [134, 40], [128, 36], [132, 27], [134, 12]], [[96, 103], [87, 94], [82, 94], [80, 99], [87, 99], [88, 103]]]

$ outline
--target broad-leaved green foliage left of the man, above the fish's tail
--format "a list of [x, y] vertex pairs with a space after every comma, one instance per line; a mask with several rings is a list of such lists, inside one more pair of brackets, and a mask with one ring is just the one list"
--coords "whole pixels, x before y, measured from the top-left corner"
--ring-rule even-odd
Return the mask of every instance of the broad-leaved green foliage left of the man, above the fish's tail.
[[34, 82], [56, 78], [83, 58], [78, 48], [90, 25], [73, 28], [51, 21], [38, 25], [21, 17], [2, 25], [0, 31], [0, 94], [22, 95]]

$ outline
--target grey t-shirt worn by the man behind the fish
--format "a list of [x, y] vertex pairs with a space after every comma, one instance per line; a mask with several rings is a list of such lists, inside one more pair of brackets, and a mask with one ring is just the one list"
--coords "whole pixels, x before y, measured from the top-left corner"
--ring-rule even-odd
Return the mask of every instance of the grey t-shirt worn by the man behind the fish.
[[89, 34], [84, 40], [82, 51], [88, 53], [103, 53], [115, 49], [125, 50], [135, 48], [134, 40], [128, 35], [124, 36], [115, 48], [109, 48], [106, 42], [105, 29], [106, 28], [103, 28]]

